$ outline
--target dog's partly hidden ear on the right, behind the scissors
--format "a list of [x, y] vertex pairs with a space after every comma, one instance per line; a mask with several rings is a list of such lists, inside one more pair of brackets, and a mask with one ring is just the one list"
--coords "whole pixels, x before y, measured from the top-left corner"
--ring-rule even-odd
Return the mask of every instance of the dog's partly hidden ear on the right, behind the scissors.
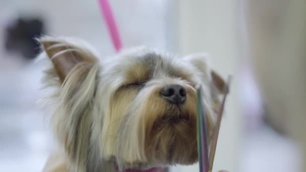
[[184, 59], [188, 60], [202, 72], [201, 75], [203, 76], [203, 79], [209, 80], [209, 84], [213, 87], [213, 90], [217, 90], [218, 93], [223, 93], [225, 91], [226, 83], [215, 70], [211, 69], [208, 54], [191, 54], [184, 57]]

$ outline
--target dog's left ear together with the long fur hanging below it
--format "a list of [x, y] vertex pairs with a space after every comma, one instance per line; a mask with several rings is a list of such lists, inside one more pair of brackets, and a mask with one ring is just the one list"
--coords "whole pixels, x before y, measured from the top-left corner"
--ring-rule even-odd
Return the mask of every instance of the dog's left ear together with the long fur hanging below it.
[[46, 99], [55, 104], [51, 118], [54, 133], [78, 171], [86, 171], [90, 112], [95, 104], [100, 70], [98, 58], [81, 40], [42, 37], [38, 41], [44, 51], [42, 56], [48, 56], [52, 62], [44, 71], [43, 85], [52, 89]]

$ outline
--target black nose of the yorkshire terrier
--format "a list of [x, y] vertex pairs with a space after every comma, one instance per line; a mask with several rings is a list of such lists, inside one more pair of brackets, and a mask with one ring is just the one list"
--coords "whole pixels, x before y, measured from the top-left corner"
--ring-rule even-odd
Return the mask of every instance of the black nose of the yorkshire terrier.
[[161, 90], [161, 94], [173, 104], [183, 104], [186, 101], [186, 90], [179, 84], [166, 85]]

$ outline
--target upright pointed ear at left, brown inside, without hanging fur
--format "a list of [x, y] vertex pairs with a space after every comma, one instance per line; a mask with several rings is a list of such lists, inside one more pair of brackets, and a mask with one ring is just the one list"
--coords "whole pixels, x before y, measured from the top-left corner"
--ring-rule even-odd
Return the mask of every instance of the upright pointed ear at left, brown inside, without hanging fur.
[[97, 61], [97, 58], [89, 50], [63, 39], [42, 37], [38, 41], [52, 61], [61, 82], [74, 67], [81, 65], [87, 68]]

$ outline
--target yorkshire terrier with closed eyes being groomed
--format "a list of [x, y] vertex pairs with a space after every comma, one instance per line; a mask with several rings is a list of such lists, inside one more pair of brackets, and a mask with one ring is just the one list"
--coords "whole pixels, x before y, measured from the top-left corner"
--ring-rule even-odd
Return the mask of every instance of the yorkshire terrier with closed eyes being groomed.
[[138, 47], [99, 60], [80, 40], [38, 41], [51, 62], [43, 83], [52, 89], [46, 98], [62, 171], [154, 171], [198, 161], [195, 87], [211, 134], [225, 84], [205, 54], [178, 58]]

